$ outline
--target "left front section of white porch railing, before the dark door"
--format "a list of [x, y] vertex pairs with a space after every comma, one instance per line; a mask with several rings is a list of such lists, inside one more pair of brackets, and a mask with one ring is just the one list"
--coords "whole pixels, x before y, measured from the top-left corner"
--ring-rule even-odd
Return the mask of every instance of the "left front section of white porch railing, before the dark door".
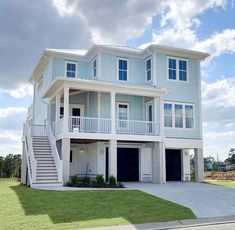
[[69, 116], [69, 132], [110, 133], [111, 119]]

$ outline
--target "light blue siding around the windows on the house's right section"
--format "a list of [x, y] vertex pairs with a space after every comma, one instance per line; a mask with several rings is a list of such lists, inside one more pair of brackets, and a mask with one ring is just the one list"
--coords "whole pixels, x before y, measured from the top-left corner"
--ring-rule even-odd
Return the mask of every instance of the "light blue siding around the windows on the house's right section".
[[198, 78], [198, 60], [188, 59], [188, 81], [168, 80], [167, 56], [157, 54], [157, 82], [169, 90], [165, 96], [166, 101], [192, 103], [194, 104], [195, 129], [170, 129], [165, 128], [166, 137], [176, 138], [200, 138], [200, 109], [199, 109], [199, 92], [200, 80]]

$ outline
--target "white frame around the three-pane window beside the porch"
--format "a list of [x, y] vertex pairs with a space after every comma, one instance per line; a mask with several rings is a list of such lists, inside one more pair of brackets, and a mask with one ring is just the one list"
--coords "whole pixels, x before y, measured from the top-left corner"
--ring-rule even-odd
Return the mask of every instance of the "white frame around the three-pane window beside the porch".
[[[171, 104], [172, 105], [172, 127], [165, 127], [165, 111], [163, 108], [163, 113], [164, 113], [164, 120], [163, 120], [163, 124], [164, 124], [164, 128], [165, 129], [176, 129], [176, 130], [195, 130], [195, 104], [193, 103], [187, 103], [187, 102], [172, 102], [172, 101], [164, 101], [163, 102], [163, 106], [164, 104]], [[175, 105], [182, 105], [183, 106], [183, 127], [175, 127]], [[193, 128], [186, 128], [186, 117], [185, 117], [185, 106], [192, 106], [193, 107]]]

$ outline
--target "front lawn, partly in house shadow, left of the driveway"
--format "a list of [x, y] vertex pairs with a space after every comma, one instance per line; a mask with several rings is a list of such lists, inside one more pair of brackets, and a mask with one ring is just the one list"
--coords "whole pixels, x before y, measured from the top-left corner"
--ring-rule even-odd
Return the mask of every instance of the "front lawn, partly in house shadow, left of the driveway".
[[80, 229], [195, 218], [140, 191], [44, 191], [0, 179], [0, 229]]

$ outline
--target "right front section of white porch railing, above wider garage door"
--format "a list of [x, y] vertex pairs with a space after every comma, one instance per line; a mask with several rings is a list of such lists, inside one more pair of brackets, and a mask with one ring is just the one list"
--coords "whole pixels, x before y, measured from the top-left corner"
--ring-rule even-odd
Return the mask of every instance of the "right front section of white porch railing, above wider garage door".
[[152, 121], [116, 120], [116, 133], [159, 136], [160, 123]]

